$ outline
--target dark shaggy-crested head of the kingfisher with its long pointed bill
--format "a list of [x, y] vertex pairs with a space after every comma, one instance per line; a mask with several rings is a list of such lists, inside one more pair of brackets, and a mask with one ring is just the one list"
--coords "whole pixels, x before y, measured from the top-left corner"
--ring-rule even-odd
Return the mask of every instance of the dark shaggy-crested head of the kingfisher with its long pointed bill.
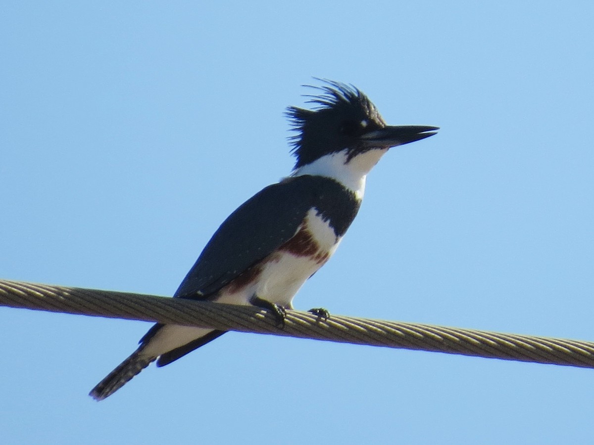
[[[419, 141], [435, 134], [437, 127], [386, 125], [375, 105], [352, 85], [323, 80], [317, 95], [307, 95], [311, 110], [289, 107], [287, 116], [293, 130], [295, 169], [319, 158], [345, 151], [349, 162], [369, 150], [387, 150], [396, 145]], [[306, 85], [311, 87], [311, 85]]]

